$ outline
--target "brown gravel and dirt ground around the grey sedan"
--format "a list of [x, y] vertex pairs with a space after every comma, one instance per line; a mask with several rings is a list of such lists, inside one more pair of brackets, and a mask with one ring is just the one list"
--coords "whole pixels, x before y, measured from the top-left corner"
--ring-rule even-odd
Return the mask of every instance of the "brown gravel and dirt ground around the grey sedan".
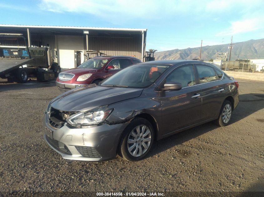
[[229, 126], [207, 123], [126, 162], [62, 159], [43, 139], [55, 82], [0, 81], [0, 191], [264, 191], [264, 82], [239, 80]]

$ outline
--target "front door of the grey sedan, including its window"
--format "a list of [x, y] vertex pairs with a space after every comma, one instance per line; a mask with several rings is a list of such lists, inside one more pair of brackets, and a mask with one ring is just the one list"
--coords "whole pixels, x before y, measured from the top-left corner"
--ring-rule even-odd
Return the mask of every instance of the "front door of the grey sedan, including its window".
[[196, 86], [193, 65], [176, 68], [165, 81], [181, 83], [182, 89], [160, 92], [163, 135], [198, 123], [202, 107], [201, 88]]

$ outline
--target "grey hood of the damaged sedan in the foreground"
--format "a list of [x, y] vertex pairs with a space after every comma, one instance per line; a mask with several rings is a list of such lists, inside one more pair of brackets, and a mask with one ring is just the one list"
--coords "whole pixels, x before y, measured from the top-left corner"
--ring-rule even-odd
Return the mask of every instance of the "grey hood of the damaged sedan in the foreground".
[[95, 84], [67, 91], [51, 102], [51, 106], [62, 111], [88, 111], [99, 106], [136, 98], [143, 89], [103, 87]]

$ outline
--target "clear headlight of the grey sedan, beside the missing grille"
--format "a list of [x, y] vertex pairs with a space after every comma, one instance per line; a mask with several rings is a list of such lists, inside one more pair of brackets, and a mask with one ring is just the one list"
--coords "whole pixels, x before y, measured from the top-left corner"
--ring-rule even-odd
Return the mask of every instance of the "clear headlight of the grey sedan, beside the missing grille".
[[106, 107], [102, 106], [87, 112], [79, 112], [69, 117], [68, 123], [78, 128], [102, 123], [113, 111], [113, 109], [107, 109]]

